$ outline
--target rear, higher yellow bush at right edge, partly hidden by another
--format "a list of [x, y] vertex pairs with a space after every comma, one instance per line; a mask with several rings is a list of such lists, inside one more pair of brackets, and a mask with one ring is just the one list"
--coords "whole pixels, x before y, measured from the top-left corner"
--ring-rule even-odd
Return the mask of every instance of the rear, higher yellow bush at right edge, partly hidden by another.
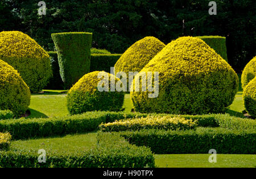
[[256, 56], [249, 61], [249, 63], [245, 66], [245, 69], [243, 69], [242, 73], [242, 88], [244, 89], [245, 86], [253, 80], [253, 78], [256, 76]]

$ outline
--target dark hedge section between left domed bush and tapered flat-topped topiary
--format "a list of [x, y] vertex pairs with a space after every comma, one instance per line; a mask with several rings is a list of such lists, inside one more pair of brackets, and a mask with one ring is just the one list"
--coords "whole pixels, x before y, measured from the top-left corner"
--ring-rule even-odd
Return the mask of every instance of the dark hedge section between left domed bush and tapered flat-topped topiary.
[[52, 77], [49, 79], [49, 83], [44, 89], [64, 89], [63, 81], [60, 77], [60, 66], [58, 61], [57, 52], [47, 52], [50, 56]]

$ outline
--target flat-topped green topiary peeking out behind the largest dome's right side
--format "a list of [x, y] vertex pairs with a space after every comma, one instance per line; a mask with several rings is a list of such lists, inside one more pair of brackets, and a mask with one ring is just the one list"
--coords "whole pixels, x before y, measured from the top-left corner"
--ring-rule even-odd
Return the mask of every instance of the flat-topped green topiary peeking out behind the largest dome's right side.
[[228, 62], [228, 56], [226, 55], [226, 38], [221, 36], [198, 36], [198, 38], [204, 40], [218, 55]]

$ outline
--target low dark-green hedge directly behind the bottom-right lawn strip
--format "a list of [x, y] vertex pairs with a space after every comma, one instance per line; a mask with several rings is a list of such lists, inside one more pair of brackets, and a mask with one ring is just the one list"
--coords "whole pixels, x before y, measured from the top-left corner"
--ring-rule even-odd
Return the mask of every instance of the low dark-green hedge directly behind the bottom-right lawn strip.
[[217, 153], [255, 154], [255, 130], [227, 130], [226, 128], [197, 128], [186, 131], [142, 130], [119, 132], [131, 144], [150, 147], [158, 154]]

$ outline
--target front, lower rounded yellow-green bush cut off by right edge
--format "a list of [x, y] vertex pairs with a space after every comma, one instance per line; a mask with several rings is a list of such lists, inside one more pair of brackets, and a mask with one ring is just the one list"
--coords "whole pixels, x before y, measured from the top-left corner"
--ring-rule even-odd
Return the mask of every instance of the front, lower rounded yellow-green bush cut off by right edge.
[[256, 118], [256, 77], [245, 86], [243, 102], [245, 103], [247, 112]]

